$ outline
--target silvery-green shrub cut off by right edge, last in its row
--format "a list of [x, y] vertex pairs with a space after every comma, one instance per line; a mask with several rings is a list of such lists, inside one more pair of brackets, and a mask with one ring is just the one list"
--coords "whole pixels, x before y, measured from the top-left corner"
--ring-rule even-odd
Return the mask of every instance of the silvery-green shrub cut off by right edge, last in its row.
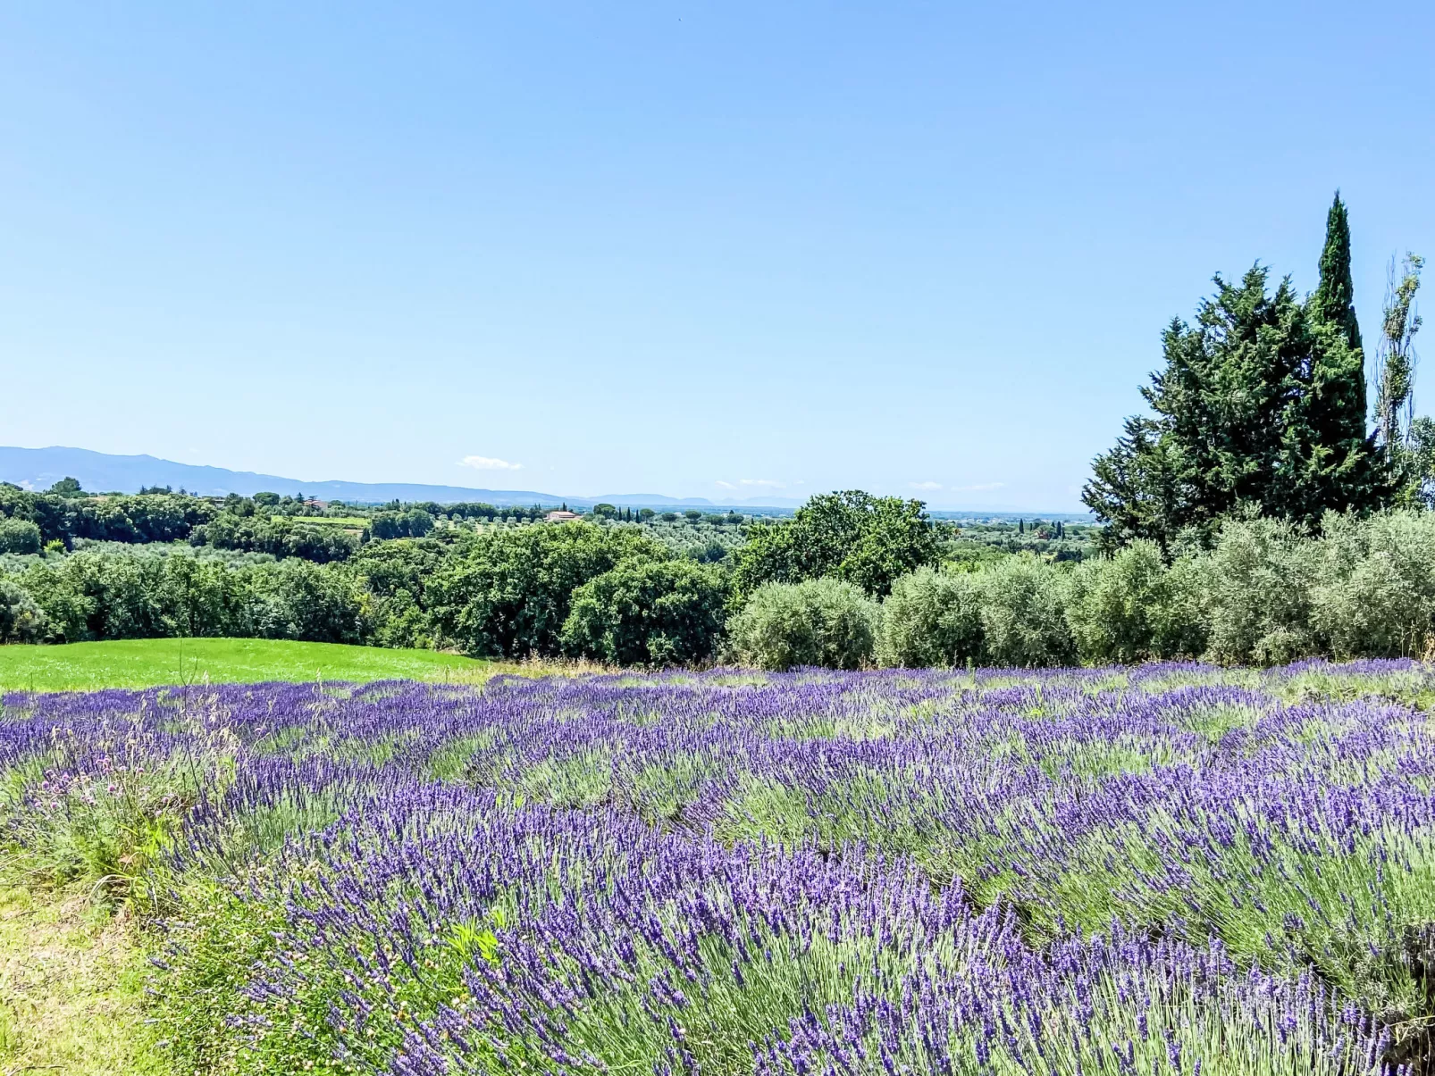
[[1310, 594], [1314, 631], [1336, 657], [1422, 654], [1435, 624], [1435, 515], [1325, 519]]

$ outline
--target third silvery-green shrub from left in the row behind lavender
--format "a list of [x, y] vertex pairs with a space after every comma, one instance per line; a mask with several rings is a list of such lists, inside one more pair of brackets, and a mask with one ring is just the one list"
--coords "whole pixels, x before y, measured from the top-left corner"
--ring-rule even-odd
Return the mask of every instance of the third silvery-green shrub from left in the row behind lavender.
[[1066, 571], [1017, 555], [999, 561], [977, 580], [987, 656], [999, 666], [1060, 666], [1076, 659], [1066, 624]]

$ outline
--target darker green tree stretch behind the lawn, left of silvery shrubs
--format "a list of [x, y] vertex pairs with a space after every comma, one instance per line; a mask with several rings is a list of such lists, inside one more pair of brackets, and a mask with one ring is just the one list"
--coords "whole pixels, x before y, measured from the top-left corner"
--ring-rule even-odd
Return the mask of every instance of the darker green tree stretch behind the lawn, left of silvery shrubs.
[[253, 636], [692, 663], [713, 654], [726, 601], [720, 570], [581, 522], [375, 542], [336, 564], [109, 547], [0, 574], [0, 640]]

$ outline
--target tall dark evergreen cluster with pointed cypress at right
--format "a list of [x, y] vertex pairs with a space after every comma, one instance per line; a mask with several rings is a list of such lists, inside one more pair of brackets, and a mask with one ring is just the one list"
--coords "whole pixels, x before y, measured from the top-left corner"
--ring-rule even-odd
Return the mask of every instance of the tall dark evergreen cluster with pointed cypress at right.
[[1350, 230], [1336, 195], [1320, 284], [1302, 301], [1274, 293], [1256, 265], [1215, 277], [1194, 324], [1165, 330], [1164, 369], [1098, 456], [1083, 501], [1108, 524], [1108, 547], [1138, 538], [1170, 552], [1208, 544], [1221, 519], [1258, 511], [1303, 524], [1386, 504], [1392, 483], [1366, 432], [1365, 359], [1350, 283]]

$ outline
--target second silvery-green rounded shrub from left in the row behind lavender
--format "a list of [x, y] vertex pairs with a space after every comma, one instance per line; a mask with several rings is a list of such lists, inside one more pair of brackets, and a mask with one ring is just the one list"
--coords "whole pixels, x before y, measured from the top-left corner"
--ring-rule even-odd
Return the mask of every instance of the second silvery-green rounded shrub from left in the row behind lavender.
[[883, 603], [877, 663], [921, 669], [983, 661], [982, 588], [971, 572], [923, 567]]

